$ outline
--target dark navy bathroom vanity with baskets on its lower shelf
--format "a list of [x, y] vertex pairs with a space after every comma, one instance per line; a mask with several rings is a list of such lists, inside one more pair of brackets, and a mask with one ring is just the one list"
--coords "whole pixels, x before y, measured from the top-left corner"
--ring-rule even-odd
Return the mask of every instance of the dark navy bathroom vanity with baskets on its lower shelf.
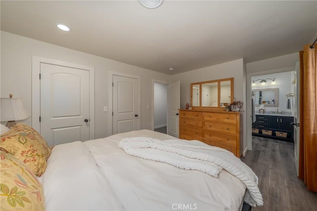
[[294, 142], [294, 129], [291, 114], [256, 113], [256, 122], [252, 123], [252, 135], [282, 141]]

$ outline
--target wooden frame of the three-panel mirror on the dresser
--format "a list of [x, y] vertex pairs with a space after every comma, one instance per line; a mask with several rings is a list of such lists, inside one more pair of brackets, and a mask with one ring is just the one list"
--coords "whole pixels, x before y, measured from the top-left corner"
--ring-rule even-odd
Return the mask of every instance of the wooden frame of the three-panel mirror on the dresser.
[[[218, 79], [218, 80], [212, 80], [212, 81], [203, 81], [203, 82], [197, 82], [197, 83], [191, 83], [190, 84], [190, 103], [193, 105], [193, 86], [194, 85], [199, 85], [199, 105], [200, 106], [192, 106], [195, 109], [203, 108], [203, 109], [223, 109], [224, 107], [221, 107], [220, 104], [220, 82], [222, 81], [230, 81], [230, 103], [234, 101], [234, 83], [233, 83], [234, 78], [224, 78], [224, 79]], [[211, 107], [211, 106], [201, 106], [202, 105], [202, 85], [207, 84], [207, 83], [217, 83], [218, 86], [218, 106], [216, 107]]]

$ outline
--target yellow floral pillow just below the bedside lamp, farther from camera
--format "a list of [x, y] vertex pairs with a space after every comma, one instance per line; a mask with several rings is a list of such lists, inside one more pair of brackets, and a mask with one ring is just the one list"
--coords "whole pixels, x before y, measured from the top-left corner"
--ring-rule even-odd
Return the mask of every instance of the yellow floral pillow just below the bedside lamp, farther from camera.
[[52, 150], [45, 139], [31, 126], [18, 123], [1, 134], [1, 147], [24, 162], [37, 176], [41, 176]]

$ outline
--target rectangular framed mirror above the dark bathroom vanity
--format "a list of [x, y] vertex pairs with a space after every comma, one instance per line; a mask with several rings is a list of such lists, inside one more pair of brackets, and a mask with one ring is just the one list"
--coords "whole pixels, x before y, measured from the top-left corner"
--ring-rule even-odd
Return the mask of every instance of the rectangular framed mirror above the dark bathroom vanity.
[[278, 107], [278, 88], [253, 89], [252, 98], [255, 106]]

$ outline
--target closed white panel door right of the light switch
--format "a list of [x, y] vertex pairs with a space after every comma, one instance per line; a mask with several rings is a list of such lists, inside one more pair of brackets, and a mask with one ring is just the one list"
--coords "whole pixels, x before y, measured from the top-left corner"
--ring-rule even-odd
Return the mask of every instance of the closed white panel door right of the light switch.
[[112, 76], [112, 134], [139, 130], [139, 79]]

